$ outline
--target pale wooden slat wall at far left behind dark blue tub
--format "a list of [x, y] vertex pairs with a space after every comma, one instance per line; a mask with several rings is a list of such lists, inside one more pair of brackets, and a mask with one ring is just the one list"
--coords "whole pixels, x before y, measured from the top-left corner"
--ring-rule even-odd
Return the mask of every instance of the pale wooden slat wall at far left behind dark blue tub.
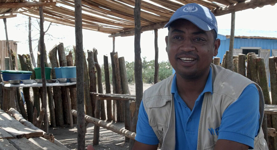
[[[17, 43], [13, 40], [9, 40], [10, 49], [14, 51], [15, 55], [15, 67], [17, 67]], [[1, 70], [5, 70], [5, 57], [9, 57], [8, 50], [7, 50], [7, 43], [6, 40], [0, 40], [0, 59], [1, 59]]]

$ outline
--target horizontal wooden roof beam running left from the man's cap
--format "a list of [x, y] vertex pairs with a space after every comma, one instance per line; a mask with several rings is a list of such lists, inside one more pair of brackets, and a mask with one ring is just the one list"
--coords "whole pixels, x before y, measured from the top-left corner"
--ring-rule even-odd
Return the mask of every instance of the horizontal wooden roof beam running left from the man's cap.
[[[154, 30], [154, 29], [160, 29], [160, 28], [163, 28], [166, 24], [167, 24], [167, 22], [163, 22], [163, 23], [158, 23], [158, 24], [154, 24], [154, 25], [150, 25], [150, 26], [144, 26], [144, 27], [141, 27], [141, 31], [143, 32], [143, 31], [149, 31], [149, 30]], [[109, 37], [131, 36], [131, 35], [134, 35], [134, 29], [110, 34]]]

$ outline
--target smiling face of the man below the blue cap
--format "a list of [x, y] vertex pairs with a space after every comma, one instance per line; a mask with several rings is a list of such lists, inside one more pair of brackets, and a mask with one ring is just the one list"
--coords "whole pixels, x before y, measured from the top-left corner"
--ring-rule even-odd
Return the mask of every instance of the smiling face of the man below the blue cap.
[[214, 40], [212, 31], [203, 31], [185, 19], [171, 23], [165, 40], [172, 67], [185, 79], [207, 75], [220, 45], [219, 39]]

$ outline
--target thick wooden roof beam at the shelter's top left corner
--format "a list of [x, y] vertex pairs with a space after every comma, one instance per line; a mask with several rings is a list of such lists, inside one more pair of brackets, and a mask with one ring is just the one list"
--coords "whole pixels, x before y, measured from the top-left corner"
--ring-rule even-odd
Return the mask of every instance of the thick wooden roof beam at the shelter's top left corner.
[[38, 7], [56, 5], [56, 1], [41, 1], [41, 2], [6, 2], [1, 3], [0, 8], [23, 8], [23, 7]]

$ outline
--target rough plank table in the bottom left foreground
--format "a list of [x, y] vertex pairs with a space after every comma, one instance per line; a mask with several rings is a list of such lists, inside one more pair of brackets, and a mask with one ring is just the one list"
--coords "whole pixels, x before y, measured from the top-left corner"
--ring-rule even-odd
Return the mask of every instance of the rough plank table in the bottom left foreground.
[[42, 137], [43, 132], [28, 128], [0, 110], [0, 149], [67, 150]]

